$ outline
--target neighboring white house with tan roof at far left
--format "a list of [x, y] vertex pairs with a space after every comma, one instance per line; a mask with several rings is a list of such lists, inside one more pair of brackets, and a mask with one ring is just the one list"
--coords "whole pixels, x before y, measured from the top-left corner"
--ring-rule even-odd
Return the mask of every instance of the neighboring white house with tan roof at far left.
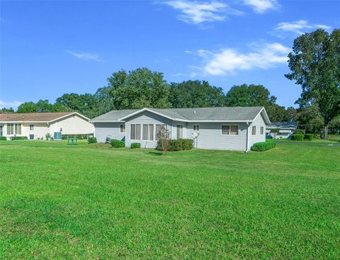
[[50, 133], [55, 139], [62, 135], [93, 134], [94, 125], [89, 118], [77, 112], [11, 113], [0, 114], [0, 136], [27, 136], [45, 139]]

